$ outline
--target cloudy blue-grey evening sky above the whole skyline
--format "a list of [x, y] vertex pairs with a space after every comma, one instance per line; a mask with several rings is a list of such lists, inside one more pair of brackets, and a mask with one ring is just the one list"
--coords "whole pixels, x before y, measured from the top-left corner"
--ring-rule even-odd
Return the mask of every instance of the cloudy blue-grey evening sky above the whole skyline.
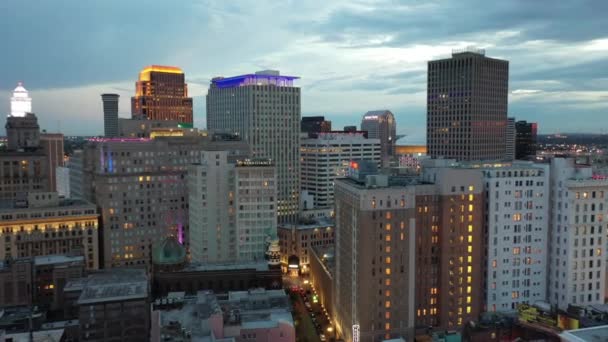
[[100, 94], [120, 116], [146, 65], [181, 67], [205, 127], [215, 76], [300, 76], [302, 115], [335, 128], [389, 109], [423, 143], [427, 61], [475, 47], [509, 60], [509, 115], [541, 133], [608, 133], [605, 0], [0, 1], [0, 111], [22, 81], [47, 131], [103, 132]]

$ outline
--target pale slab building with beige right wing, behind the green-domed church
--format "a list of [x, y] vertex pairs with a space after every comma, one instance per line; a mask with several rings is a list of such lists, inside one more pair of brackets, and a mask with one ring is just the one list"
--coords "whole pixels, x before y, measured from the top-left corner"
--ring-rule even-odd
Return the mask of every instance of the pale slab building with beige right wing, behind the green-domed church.
[[276, 176], [269, 160], [203, 152], [189, 166], [190, 250], [205, 264], [260, 261], [276, 239]]

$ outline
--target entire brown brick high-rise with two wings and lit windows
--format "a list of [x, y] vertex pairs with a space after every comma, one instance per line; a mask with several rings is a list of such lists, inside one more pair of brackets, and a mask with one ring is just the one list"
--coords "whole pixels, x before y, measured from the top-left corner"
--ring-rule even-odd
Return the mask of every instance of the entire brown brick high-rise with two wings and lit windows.
[[[457, 329], [483, 305], [483, 182], [479, 170], [336, 180], [334, 309], [346, 340]], [[365, 166], [365, 167], [364, 167]], [[370, 229], [374, 227], [373, 229]]]

